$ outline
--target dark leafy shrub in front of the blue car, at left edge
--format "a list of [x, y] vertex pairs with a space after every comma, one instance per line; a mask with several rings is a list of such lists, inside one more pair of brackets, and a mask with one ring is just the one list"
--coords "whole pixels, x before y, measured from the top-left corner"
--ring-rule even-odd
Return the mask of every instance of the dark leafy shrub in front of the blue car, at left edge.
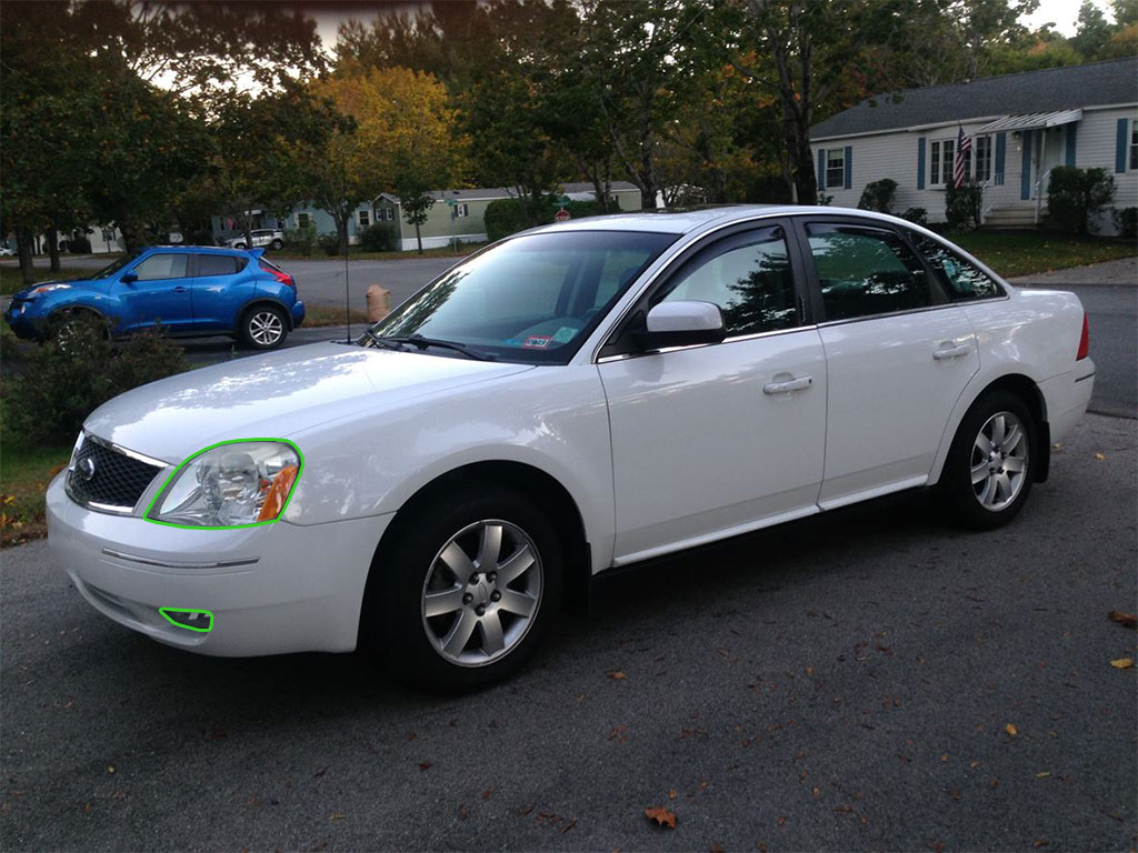
[[6, 382], [5, 428], [24, 444], [73, 441], [83, 420], [112, 397], [188, 366], [160, 330], [115, 345], [101, 324], [79, 323], [65, 340], [28, 348], [19, 374]]

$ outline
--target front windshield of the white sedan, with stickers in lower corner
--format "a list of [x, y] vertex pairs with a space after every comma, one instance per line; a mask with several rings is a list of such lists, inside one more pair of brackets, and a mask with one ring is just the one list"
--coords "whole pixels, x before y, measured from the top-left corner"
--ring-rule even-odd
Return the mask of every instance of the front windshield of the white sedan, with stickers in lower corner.
[[[421, 337], [505, 362], [564, 364], [675, 239], [628, 231], [514, 238], [436, 279], [361, 343]], [[423, 351], [453, 355], [442, 347]]]

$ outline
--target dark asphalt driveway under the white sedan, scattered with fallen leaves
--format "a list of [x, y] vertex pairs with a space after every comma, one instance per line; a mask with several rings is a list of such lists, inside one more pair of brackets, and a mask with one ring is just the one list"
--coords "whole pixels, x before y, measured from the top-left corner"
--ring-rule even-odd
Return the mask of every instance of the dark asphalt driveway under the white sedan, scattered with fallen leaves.
[[0, 846], [1130, 848], [1136, 442], [1088, 416], [1003, 531], [908, 494], [616, 575], [463, 697], [167, 649], [5, 552]]

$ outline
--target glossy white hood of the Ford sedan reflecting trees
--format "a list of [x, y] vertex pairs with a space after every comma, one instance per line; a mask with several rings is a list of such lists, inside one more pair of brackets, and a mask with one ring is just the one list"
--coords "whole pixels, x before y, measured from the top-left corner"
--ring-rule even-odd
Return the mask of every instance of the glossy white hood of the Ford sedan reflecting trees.
[[465, 358], [312, 343], [181, 373], [97, 408], [89, 433], [178, 464], [238, 438], [290, 438], [365, 409], [533, 370]]

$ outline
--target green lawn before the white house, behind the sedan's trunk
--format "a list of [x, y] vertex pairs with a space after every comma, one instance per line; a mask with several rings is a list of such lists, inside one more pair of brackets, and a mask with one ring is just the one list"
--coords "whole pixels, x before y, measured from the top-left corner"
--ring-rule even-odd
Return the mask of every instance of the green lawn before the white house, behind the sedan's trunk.
[[947, 237], [1005, 279], [1138, 255], [1138, 246], [1133, 241], [1092, 237], [1073, 238], [1028, 231], [972, 231]]

